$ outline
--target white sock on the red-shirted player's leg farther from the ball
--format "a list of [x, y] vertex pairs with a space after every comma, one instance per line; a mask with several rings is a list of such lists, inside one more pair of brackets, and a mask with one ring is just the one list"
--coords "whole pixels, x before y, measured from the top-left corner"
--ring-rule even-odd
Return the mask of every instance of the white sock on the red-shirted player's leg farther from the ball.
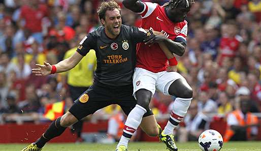
[[135, 131], [141, 124], [142, 116], [146, 113], [146, 109], [140, 105], [136, 105], [134, 109], [129, 112], [123, 129], [123, 134], [117, 146], [128, 146], [128, 141], [131, 139]]

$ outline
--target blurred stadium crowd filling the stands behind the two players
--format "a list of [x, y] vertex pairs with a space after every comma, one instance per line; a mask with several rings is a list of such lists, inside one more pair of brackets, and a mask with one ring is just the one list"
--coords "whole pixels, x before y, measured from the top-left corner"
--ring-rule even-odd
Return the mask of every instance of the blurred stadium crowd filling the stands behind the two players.
[[[101, 25], [96, 13], [100, 2], [0, 0], [1, 123], [43, 122], [45, 106], [61, 100], [66, 110], [70, 108], [73, 99], [67, 75], [37, 77], [31, 69], [44, 61], [53, 65], [68, 57], [68, 50]], [[121, 5], [121, 0], [116, 2]], [[123, 7], [121, 15], [123, 24], [141, 23], [140, 16]], [[239, 109], [242, 100], [248, 101], [251, 112], [261, 110], [261, 1], [198, 0], [186, 20], [187, 48], [178, 57], [178, 72], [192, 86], [193, 101], [178, 132], [190, 137], [181, 141], [198, 138], [199, 129], [205, 130], [211, 120]], [[93, 67], [88, 69], [88, 78]], [[91, 85], [90, 81], [83, 87]], [[156, 93], [150, 104], [155, 116], [169, 117], [164, 115], [171, 112], [173, 100]], [[111, 108], [101, 111], [99, 117], [118, 113]]]

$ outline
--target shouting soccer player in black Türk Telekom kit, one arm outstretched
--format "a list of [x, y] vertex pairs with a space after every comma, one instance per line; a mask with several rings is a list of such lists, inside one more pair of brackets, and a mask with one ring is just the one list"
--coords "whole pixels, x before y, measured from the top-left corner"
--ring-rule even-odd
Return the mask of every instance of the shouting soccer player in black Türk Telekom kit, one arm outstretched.
[[[32, 69], [37, 76], [65, 72], [74, 68], [90, 49], [94, 49], [97, 69], [93, 85], [66, 114], [54, 120], [36, 142], [22, 151], [41, 150], [46, 142], [61, 135], [67, 127], [103, 107], [118, 104], [125, 114], [135, 107], [137, 102], [133, 97], [132, 76], [136, 64], [136, 44], [147, 42], [154, 35], [152, 31], [122, 25], [120, 7], [114, 1], [103, 2], [97, 12], [103, 26], [84, 37], [71, 57], [56, 65], [46, 62], [44, 65], [37, 64], [38, 68]], [[160, 127], [149, 109], [143, 116], [141, 128], [150, 136], [159, 134]]]

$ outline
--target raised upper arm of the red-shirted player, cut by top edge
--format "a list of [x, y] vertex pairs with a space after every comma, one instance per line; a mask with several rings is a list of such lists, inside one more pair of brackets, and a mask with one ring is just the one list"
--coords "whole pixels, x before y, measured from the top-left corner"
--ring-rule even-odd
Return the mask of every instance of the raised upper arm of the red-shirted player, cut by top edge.
[[135, 13], [140, 13], [144, 10], [144, 5], [138, 0], [123, 0], [122, 4], [125, 6], [125, 8]]

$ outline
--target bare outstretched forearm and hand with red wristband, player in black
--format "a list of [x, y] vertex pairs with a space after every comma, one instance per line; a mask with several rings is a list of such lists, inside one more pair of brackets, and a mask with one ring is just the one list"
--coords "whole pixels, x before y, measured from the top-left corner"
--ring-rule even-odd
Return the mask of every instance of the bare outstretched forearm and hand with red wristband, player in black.
[[[56, 65], [56, 73], [65, 72], [72, 68], [74, 68], [83, 58], [83, 56], [75, 52], [71, 57], [64, 59], [63, 61], [60, 61]], [[44, 65], [36, 64], [38, 68], [32, 69], [32, 73], [34, 73], [37, 76], [46, 76], [51, 74], [52, 66], [49, 63], [44, 62]]]

